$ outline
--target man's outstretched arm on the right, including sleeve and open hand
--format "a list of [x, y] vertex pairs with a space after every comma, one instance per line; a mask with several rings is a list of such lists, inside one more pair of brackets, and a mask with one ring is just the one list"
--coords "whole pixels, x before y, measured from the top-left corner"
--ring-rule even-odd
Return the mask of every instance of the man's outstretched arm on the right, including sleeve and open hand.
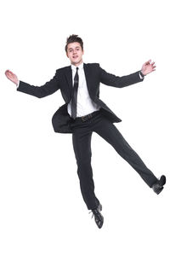
[[100, 82], [117, 88], [122, 88], [131, 84], [136, 84], [144, 80], [144, 75], [151, 73], [152, 71], [155, 71], [156, 66], [154, 66], [154, 64], [155, 62], [150, 63], [150, 61], [146, 61], [144, 62], [144, 65], [142, 66], [141, 70], [122, 77], [116, 76], [111, 73], [107, 73], [104, 69], [99, 67]]

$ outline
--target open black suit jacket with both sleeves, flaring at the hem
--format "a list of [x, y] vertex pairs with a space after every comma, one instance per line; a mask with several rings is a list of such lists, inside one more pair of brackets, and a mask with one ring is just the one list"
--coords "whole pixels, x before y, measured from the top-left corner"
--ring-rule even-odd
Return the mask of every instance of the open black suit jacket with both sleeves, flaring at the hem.
[[[111, 73], [106, 73], [105, 70], [99, 66], [99, 63], [83, 63], [83, 68], [91, 99], [99, 105], [101, 111], [105, 116], [111, 119], [112, 123], [121, 122], [122, 120], [106, 106], [105, 102], [99, 99], [99, 84], [101, 82], [102, 84], [117, 88], [135, 84], [143, 81], [143, 79], [139, 78], [139, 71], [119, 77]], [[38, 98], [51, 95], [55, 91], [60, 90], [65, 104], [54, 113], [52, 124], [55, 132], [72, 133], [71, 117], [67, 112], [67, 105], [71, 101], [72, 86], [72, 71], [71, 66], [68, 66], [57, 69], [54, 78], [42, 86], [35, 86], [20, 81], [17, 90], [32, 96], [37, 96]]]

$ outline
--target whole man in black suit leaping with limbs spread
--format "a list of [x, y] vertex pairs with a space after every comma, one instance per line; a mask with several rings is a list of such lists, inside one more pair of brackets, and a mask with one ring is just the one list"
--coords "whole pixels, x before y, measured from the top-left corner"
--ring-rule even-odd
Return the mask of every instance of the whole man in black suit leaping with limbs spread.
[[164, 175], [158, 179], [139, 158], [116, 129], [113, 123], [122, 121], [104, 102], [99, 99], [99, 83], [122, 88], [139, 83], [144, 76], [155, 71], [155, 62], [146, 61], [141, 70], [127, 76], [118, 77], [106, 73], [98, 63], [83, 63], [82, 38], [71, 35], [67, 38], [65, 52], [71, 66], [56, 70], [54, 78], [42, 86], [34, 86], [19, 81], [11, 71], [5, 72], [8, 79], [17, 84], [17, 90], [39, 98], [51, 95], [57, 90], [65, 104], [54, 113], [52, 122], [55, 132], [72, 133], [72, 143], [77, 160], [77, 174], [80, 180], [82, 197], [88, 209], [91, 209], [95, 223], [102, 227], [104, 217], [102, 206], [94, 194], [94, 180], [91, 166], [91, 137], [93, 131], [110, 143], [116, 152], [139, 173], [144, 182], [159, 194], [166, 183]]

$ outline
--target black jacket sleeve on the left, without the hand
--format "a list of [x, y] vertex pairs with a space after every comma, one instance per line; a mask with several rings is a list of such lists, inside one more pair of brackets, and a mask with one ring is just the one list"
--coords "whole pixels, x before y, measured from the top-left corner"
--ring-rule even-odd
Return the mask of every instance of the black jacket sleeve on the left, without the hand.
[[51, 79], [50, 81], [46, 82], [41, 86], [35, 86], [35, 85], [27, 84], [23, 81], [20, 81], [20, 84], [17, 90], [24, 92], [26, 94], [30, 94], [31, 96], [36, 96], [38, 98], [51, 95], [55, 91], [59, 90], [59, 79], [57, 76], [57, 71], [53, 79]]

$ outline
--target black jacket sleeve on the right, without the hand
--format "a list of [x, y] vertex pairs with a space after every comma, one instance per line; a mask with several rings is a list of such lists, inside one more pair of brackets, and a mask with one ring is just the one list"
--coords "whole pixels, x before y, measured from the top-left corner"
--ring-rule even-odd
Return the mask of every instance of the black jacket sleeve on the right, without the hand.
[[139, 71], [131, 73], [126, 76], [116, 76], [111, 73], [107, 73], [103, 68], [99, 67], [99, 77], [102, 84], [122, 88], [131, 84], [142, 82], [144, 79], [139, 77]]

